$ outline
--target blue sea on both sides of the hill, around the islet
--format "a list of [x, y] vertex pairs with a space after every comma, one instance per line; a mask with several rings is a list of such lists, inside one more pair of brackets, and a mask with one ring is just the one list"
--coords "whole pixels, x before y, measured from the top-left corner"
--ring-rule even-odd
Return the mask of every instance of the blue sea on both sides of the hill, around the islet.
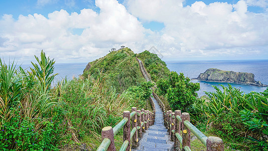
[[[236, 72], [251, 72], [255, 75], [255, 81], [260, 81], [262, 84], [268, 85], [268, 60], [217, 60], [217, 61], [165, 61], [170, 71], [176, 71], [177, 73], [183, 72], [185, 76], [197, 78], [200, 73], [203, 73], [208, 68], [218, 68], [222, 70], [232, 70]], [[54, 84], [61, 81], [63, 78], [72, 79], [78, 77], [79, 74], [83, 73], [87, 63], [55, 63], [54, 73], [56, 75]], [[24, 65], [23, 68], [28, 68], [32, 65]], [[216, 83], [216, 82], [204, 82], [196, 81], [192, 82], [200, 83], [199, 96], [205, 95], [204, 91], [213, 92], [215, 91], [212, 86], [223, 85], [228, 86], [228, 83]], [[230, 83], [232, 87], [240, 89], [245, 93], [263, 92], [265, 87], [256, 87], [244, 84]]]

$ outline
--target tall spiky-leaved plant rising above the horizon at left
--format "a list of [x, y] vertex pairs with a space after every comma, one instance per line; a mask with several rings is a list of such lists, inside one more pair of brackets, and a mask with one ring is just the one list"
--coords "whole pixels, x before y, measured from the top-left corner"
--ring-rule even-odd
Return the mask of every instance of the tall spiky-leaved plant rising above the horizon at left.
[[[46, 54], [41, 51], [41, 60], [35, 55], [35, 58], [39, 64], [33, 63], [34, 68], [31, 68], [33, 75], [40, 82], [40, 91], [46, 92], [46, 90], [50, 89], [51, 82], [54, 80], [54, 77], [58, 74], [53, 74], [54, 71], [54, 59], [50, 60], [49, 57], [46, 57]], [[53, 74], [53, 75], [51, 75]]]

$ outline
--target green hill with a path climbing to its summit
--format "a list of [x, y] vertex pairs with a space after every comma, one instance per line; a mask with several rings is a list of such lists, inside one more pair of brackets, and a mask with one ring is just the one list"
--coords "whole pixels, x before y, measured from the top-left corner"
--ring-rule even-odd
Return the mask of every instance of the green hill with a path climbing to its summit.
[[112, 51], [102, 58], [89, 62], [83, 75], [87, 77], [88, 74], [101, 71], [108, 75], [110, 84], [116, 88], [116, 91], [122, 93], [129, 87], [145, 82], [136, 57], [143, 61], [148, 73], [151, 74], [152, 81], [156, 81], [156, 77], [162, 78], [168, 75], [169, 70], [165, 62], [156, 54], [147, 50], [135, 54], [129, 48]]

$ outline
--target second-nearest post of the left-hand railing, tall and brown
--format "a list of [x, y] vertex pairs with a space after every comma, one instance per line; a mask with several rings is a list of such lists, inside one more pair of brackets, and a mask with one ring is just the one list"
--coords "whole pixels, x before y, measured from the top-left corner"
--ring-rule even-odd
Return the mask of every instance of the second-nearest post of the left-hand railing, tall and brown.
[[123, 128], [123, 141], [125, 140], [128, 140], [128, 146], [127, 146], [127, 149], [126, 150], [129, 150], [130, 149], [130, 132], [131, 132], [131, 129], [130, 129], [130, 112], [129, 111], [124, 111], [123, 113], [123, 118], [128, 118], [128, 121], [127, 123], [124, 125], [124, 128]]

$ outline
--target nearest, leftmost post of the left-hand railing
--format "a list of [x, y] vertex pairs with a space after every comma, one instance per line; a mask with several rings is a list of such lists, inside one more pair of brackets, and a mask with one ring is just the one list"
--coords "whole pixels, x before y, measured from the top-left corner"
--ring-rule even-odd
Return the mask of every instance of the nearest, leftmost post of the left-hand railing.
[[107, 150], [108, 151], [115, 151], [115, 138], [114, 138], [113, 127], [106, 126], [102, 129], [102, 140], [104, 138], [109, 138], [111, 140], [111, 144]]

